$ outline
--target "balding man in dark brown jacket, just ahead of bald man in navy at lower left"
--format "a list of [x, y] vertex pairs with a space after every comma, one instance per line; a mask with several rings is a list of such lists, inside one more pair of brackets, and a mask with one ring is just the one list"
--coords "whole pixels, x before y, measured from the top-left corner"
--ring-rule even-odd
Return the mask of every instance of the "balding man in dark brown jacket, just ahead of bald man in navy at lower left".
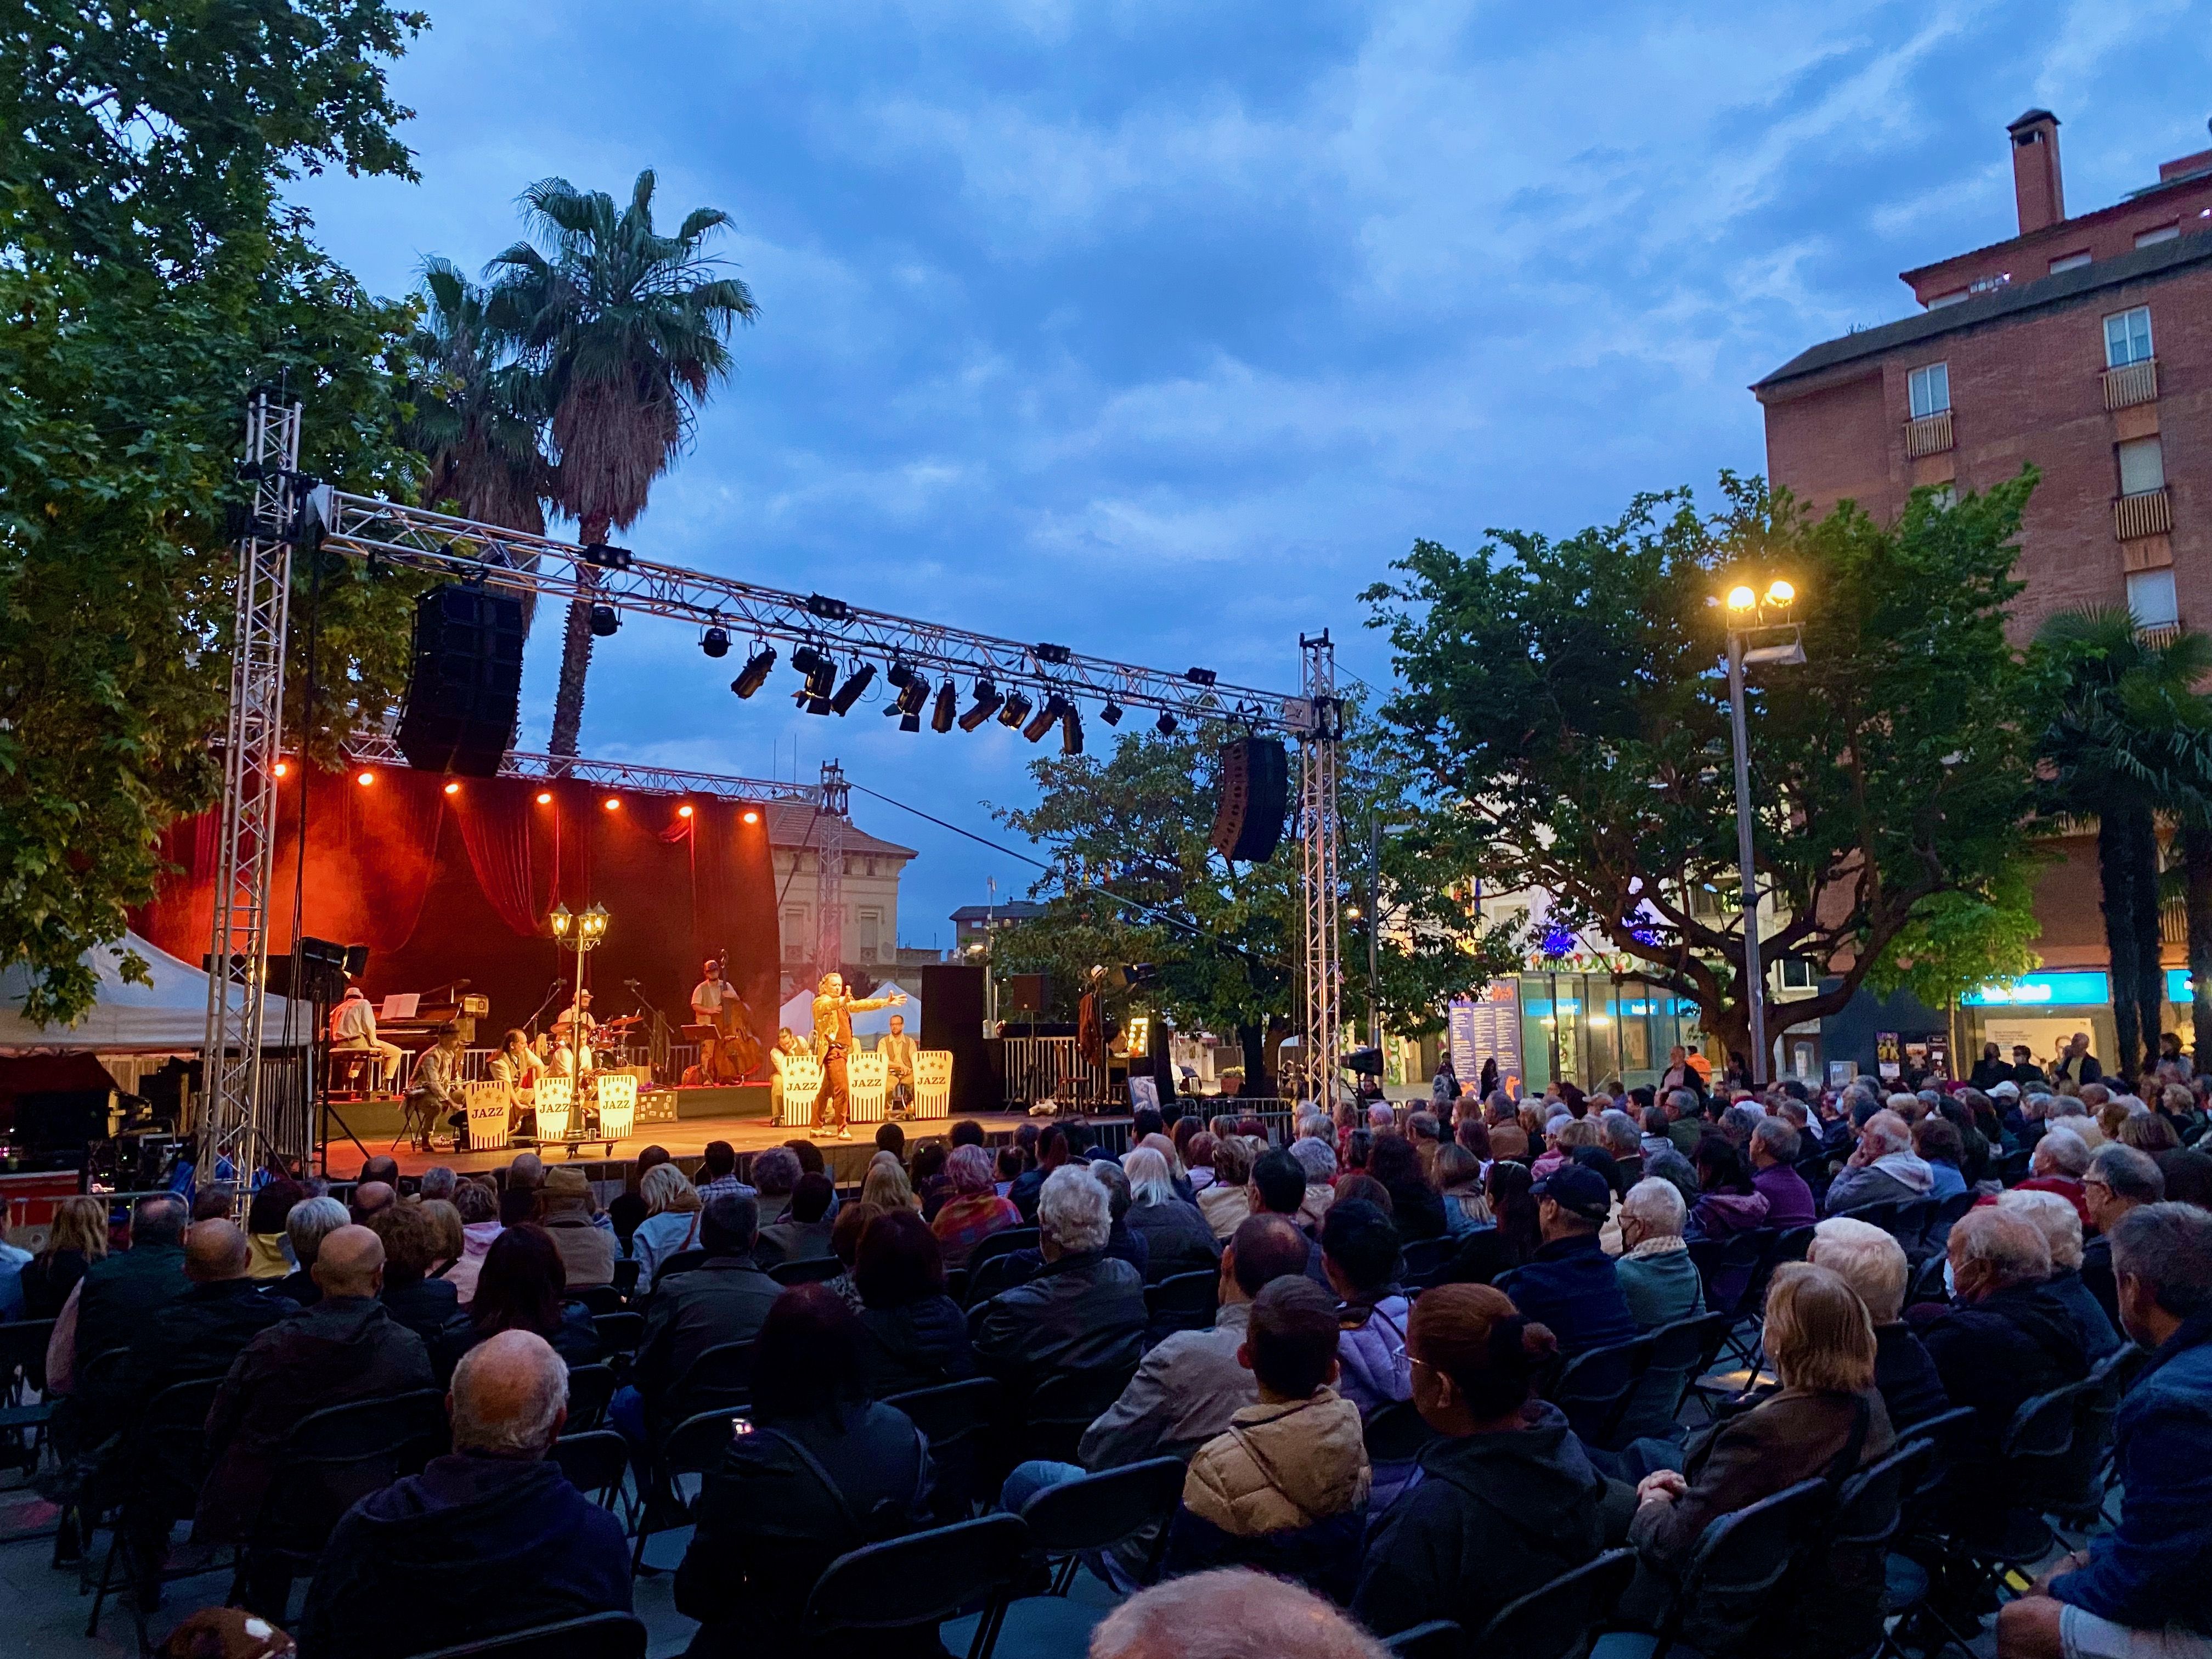
[[[307, 1413], [431, 1387], [422, 1338], [376, 1301], [383, 1276], [385, 1248], [376, 1234], [338, 1228], [314, 1259], [323, 1298], [270, 1325], [232, 1363], [208, 1411], [210, 1473], [199, 1489], [195, 1540], [252, 1542], [263, 1500], [283, 1471], [285, 1440]], [[246, 1606], [281, 1617], [290, 1593], [285, 1568], [248, 1557]]]

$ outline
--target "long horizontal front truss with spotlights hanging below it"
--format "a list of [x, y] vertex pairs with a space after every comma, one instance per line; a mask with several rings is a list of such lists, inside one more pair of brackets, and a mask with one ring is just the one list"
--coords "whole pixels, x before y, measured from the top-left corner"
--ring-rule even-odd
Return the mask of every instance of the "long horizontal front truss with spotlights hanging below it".
[[1183, 719], [1234, 719], [1252, 730], [1290, 732], [1305, 721], [1281, 692], [1232, 686], [1206, 670], [1168, 672], [1086, 657], [1066, 646], [1022, 644], [969, 628], [914, 622], [887, 611], [827, 595], [783, 593], [737, 577], [684, 571], [633, 557], [626, 568], [588, 562], [586, 549], [526, 535], [498, 524], [398, 507], [372, 495], [319, 487], [310, 507], [323, 526], [323, 546], [372, 564], [482, 582], [511, 593], [535, 593], [540, 604], [584, 599], [637, 615], [675, 617], [732, 637], [754, 635], [810, 644], [843, 657], [902, 659], [911, 668], [984, 677], [1000, 690], [1026, 686], [1068, 699], [1157, 708]]

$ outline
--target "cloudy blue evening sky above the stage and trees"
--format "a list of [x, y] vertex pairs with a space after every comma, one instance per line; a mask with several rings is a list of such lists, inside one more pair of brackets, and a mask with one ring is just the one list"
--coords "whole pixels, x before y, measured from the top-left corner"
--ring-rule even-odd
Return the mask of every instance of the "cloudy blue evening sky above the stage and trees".
[[[1750, 380], [2013, 232], [2022, 108], [2064, 122], [2073, 212], [2212, 142], [2201, 4], [431, 4], [392, 75], [422, 181], [299, 190], [372, 288], [478, 268], [553, 173], [653, 166], [668, 223], [737, 221], [761, 321], [630, 546], [1285, 690], [1301, 628], [1387, 675], [1354, 595], [1416, 535], [1763, 469]], [[526, 741], [555, 664], [542, 626]], [[838, 757], [993, 834], [982, 803], [1029, 799], [995, 723], [900, 737], [728, 677], [633, 622], [586, 752]], [[905, 942], [1029, 880], [856, 821], [922, 854]]]

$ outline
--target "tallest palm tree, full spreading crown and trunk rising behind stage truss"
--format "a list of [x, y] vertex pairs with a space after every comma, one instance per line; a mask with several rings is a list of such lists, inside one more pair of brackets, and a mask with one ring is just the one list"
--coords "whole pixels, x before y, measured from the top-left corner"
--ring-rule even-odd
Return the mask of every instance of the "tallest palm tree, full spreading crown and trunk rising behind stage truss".
[[[697, 208], [664, 237], [653, 228], [653, 184], [650, 168], [639, 173], [628, 206], [617, 208], [604, 190], [540, 179], [522, 201], [546, 250], [518, 241], [487, 268], [493, 323], [551, 414], [555, 500], [586, 544], [646, 511], [697, 407], [734, 367], [730, 330], [757, 312], [745, 283], [703, 252], [730, 215]], [[595, 580], [588, 568], [586, 580]], [[588, 670], [586, 595], [571, 602], [562, 639], [555, 754], [575, 754]]]

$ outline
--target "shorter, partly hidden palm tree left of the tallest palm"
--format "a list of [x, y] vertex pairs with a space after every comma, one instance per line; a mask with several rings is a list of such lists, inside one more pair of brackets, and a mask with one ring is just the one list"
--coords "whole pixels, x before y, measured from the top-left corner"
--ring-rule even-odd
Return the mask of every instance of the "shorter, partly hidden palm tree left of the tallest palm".
[[[422, 327], [407, 341], [416, 411], [407, 440], [429, 460], [422, 504], [453, 502], [480, 524], [544, 535], [553, 467], [538, 442], [538, 387], [489, 325], [491, 296], [434, 254], [422, 261]], [[533, 608], [524, 593], [524, 628]]]

